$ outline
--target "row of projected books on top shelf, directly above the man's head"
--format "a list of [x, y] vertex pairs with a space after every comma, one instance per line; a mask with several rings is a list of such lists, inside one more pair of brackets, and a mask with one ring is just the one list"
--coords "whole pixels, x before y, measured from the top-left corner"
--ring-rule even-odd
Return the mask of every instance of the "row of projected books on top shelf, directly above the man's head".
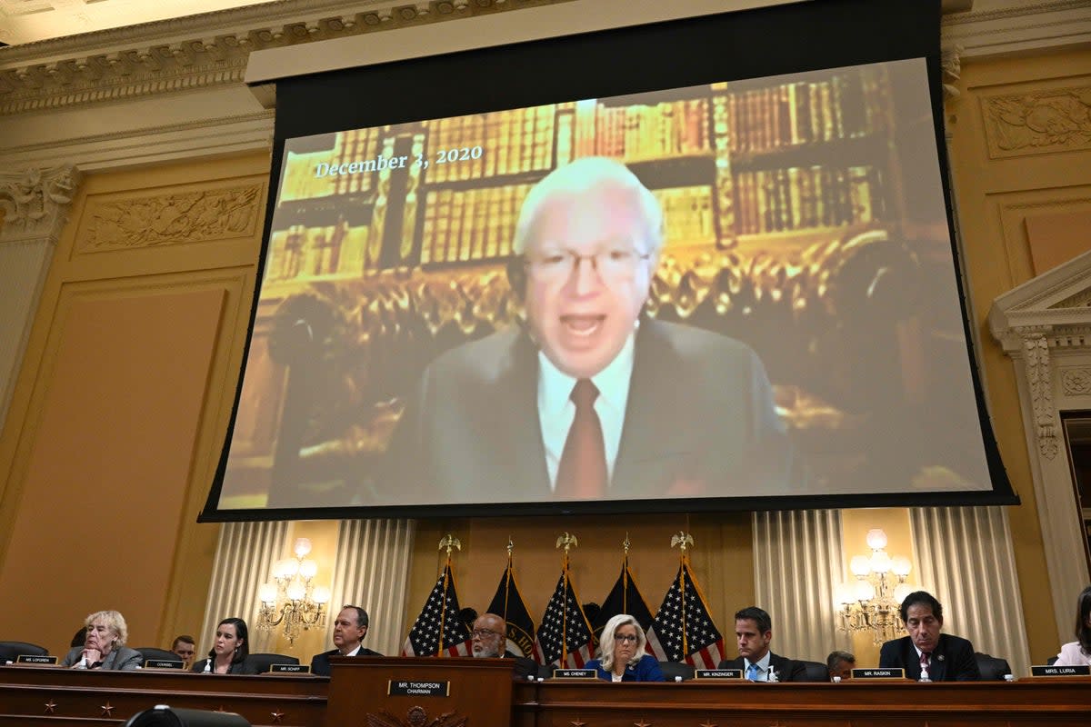
[[603, 106], [591, 99], [574, 106], [573, 140], [559, 138], [558, 148], [571, 145], [575, 157], [642, 161], [711, 150], [708, 98], [655, 106]]

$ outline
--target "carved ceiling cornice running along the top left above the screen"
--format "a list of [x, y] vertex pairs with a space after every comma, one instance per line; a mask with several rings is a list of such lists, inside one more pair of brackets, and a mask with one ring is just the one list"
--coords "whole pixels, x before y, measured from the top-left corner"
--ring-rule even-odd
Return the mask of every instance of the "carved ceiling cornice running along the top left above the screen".
[[0, 116], [237, 84], [252, 50], [568, 1], [279, 0], [12, 46], [0, 49]]

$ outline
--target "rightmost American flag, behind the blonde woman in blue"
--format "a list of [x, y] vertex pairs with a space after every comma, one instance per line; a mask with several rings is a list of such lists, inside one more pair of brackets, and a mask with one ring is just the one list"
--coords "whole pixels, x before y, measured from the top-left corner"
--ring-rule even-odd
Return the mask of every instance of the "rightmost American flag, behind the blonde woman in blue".
[[698, 669], [715, 669], [723, 659], [723, 637], [690, 571], [688, 556], [682, 556], [679, 574], [648, 629], [648, 651], [660, 662], [684, 661]]

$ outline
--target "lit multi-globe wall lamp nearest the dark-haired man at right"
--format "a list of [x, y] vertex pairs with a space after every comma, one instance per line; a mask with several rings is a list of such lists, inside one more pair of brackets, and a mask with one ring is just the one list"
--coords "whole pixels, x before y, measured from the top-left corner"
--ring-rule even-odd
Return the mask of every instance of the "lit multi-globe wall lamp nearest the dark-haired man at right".
[[876, 644], [901, 635], [902, 599], [913, 586], [906, 583], [909, 575], [909, 558], [891, 558], [886, 552], [887, 536], [880, 529], [867, 531], [867, 547], [871, 556], [854, 556], [849, 570], [856, 577], [855, 583], [837, 586], [837, 607], [840, 629], [846, 633], [872, 631]]

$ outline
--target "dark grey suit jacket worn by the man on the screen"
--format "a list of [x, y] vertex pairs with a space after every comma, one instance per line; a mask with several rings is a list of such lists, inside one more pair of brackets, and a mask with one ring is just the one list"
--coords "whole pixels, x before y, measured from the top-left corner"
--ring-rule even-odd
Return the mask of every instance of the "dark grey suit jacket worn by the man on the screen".
[[[441, 355], [395, 432], [376, 505], [550, 500], [538, 349], [517, 328]], [[744, 343], [642, 322], [611, 499], [791, 494], [791, 448]]]

